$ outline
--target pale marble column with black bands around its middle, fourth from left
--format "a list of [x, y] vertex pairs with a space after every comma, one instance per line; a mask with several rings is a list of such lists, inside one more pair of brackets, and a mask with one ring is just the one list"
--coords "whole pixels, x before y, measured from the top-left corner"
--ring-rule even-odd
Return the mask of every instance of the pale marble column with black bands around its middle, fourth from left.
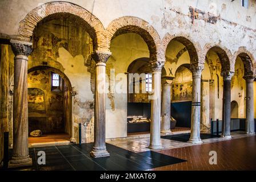
[[191, 68], [193, 77], [192, 105], [191, 105], [191, 133], [190, 143], [202, 143], [200, 138], [200, 106], [201, 106], [201, 75], [202, 67]]

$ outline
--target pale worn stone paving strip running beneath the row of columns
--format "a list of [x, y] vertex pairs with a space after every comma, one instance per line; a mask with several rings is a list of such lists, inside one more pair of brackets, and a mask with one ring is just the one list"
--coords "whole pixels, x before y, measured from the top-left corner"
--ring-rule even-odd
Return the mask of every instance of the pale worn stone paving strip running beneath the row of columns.
[[[235, 131], [235, 132], [232, 132], [231, 135], [233, 137], [232, 139], [250, 136], [249, 134], [245, 134], [244, 131]], [[212, 142], [220, 142], [224, 140], [230, 140], [230, 139], [226, 139], [223, 137], [209, 138], [209, 139], [203, 139], [202, 142], [203, 144], [206, 144], [206, 143], [212, 143]], [[149, 146], [149, 142], [150, 142], [150, 138], [127, 139], [127, 140], [113, 139], [113, 140], [107, 141], [107, 143], [113, 144], [115, 146], [124, 148], [129, 151], [133, 151], [133, 152], [150, 151], [151, 149], [147, 148]], [[165, 150], [198, 145], [194, 143], [180, 142], [180, 141], [163, 139], [163, 138], [161, 138], [161, 143], [162, 143], [162, 149], [165, 149]], [[160, 151], [160, 150], [152, 150], [152, 151]]]

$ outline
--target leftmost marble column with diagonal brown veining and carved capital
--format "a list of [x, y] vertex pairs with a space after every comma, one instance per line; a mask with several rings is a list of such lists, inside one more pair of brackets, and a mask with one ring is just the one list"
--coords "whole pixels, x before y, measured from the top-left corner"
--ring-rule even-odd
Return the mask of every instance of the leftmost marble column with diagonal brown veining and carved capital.
[[27, 56], [32, 44], [10, 40], [14, 57], [14, 96], [13, 96], [13, 156], [9, 167], [31, 166], [29, 157], [29, 122], [27, 107]]

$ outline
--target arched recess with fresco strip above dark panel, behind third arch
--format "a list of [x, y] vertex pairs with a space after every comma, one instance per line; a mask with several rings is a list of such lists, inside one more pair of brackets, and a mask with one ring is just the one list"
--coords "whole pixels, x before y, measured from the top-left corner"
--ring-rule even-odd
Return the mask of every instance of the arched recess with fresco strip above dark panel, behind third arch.
[[182, 64], [175, 72], [171, 90], [171, 116], [177, 121], [178, 127], [191, 126], [192, 88], [189, 64]]

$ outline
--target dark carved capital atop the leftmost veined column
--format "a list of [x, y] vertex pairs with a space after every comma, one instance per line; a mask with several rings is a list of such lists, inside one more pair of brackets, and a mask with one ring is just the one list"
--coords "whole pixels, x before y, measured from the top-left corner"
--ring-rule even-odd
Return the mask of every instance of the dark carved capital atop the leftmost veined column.
[[30, 42], [23, 42], [21, 40], [10, 40], [11, 49], [13, 49], [14, 55], [23, 55], [29, 56], [32, 52], [32, 43]]

